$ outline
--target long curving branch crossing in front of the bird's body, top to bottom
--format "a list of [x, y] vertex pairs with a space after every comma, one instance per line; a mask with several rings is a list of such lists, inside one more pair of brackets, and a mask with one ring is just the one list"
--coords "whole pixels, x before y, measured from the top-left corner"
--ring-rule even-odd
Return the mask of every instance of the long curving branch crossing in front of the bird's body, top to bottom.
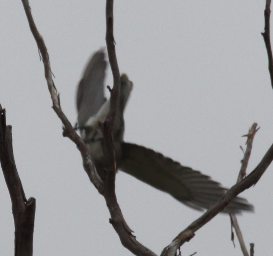
[[111, 219], [110, 223], [113, 225], [115, 231], [118, 233], [120, 241], [124, 247], [130, 250], [135, 255], [155, 255], [151, 250], [140, 244], [135, 236], [132, 235], [132, 230], [127, 225], [123, 218], [121, 209], [117, 202], [115, 193], [115, 175], [117, 171], [117, 164], [115, 158], [115, 147], [112, 140], [112, 129], [114, 126], [115, 115], [117, 112], [119, 94], [120, 94], [120, 73], [118, 69], [118, 62], [114, 45], [114, 15], [113, 15], [113, 0], [106, 1], [106, 45], [110, 67], [113, 74], [114, 86], [110, 90], [110, 110], [103, 124], [103, 137], [105, 147], [108, 154], [108, 170], [105, 179], [104, 197], [109, 209]]

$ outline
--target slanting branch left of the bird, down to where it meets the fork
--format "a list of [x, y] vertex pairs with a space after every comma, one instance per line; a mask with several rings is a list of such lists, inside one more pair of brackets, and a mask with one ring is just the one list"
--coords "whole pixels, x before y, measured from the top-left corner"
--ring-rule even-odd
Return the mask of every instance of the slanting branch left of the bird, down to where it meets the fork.
[[53, 103], [52, 107], [64, 125], [63, 135], [70, 138], [77, 145], [77, 148], [81, 152], [81, 157], [83, 160], [83, 167], [89, 177], [89, 180], [94, 184], [94, 186], [97, 188], [98, 192], [103, 194], [103, 190], [104, 190], [103, 183], [101, 181], [100, 176], [97, 174], [97, 171], [96, 171], [96, 168], [95, 168], [93, 162], [90, 159], [87, 147], [86, 147], [85, 143], [83, 142], [83, 140], [76, 133], [76, 131], [74, 130], [71, 123], [68, 121], [67, 117], [64, 115], [64, 113], [60, 107], [60, 98], [59, 98], [59, 94], [57, 93], [56, 87], [55, 87], [53, 79], [52, 79], [52, 72], [50, 69], [50, 62], [49, 62], [47, 48], [46, 48], [45, 43], [43, 41], [43, 37], [39, 34], [37, 27], [34, 23], [34, 20], [31, 15], [31, 9], [30, 9], [29, 3], [27, 0], [22, 0], [22, 3], [24, 6], [24, 9], [25, 9], [25, 13], [27, 16], [30, 30], [32, 32], [32, 35], [33, 35], [36, 43], [37, 43], [39, 52], [42, 56], [45, 78], [46, 78], [46, 81], [48, 84], [48, 90], [50, 92], [52, 103]]

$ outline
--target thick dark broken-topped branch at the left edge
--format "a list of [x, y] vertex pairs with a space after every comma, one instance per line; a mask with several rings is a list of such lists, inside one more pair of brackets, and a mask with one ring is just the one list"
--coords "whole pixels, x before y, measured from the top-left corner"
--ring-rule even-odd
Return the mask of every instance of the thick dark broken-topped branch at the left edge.
[[33, 252], [35, 198], [26, 199], [15, 165], [11, 126], [6, 126], [6, 113], [1, 105], [0, 119], [0, 161], [12, 204], [15, 226], [14, 255], [31, 256]]

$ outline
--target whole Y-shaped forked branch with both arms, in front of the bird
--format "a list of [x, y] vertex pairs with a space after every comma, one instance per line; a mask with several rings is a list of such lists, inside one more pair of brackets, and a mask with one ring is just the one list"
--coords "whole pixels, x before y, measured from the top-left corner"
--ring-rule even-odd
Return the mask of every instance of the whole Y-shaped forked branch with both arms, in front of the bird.
[[[32, 35], [37, 43], [39, 52], [42, 56], [45, 78], [48, 84], [48, 89], [51, 95], [53, 109], [56, 112], [57, 116], [60, 118], [61, 122], [64, 125], [64, 133], [63, 135], [70, 138], [76, 145], [79, 151], [81, 152], [81, 156], [83, 159], [84, 169], [90, 179], [90, 181], [97, 188], [99, 193], [101, 193], [105, 197], [105, 201], [107, 207], [110, 211], [110, 223], [113, 225], [114, 229], [118, 233], [122, 245], [125, 246], [128, 250], [136, 255], [155, 255], [151, 250], [141, 245], [135, 237], [131, 234], [132, 230], [126, 224], [121, 209], [117, 203], [116, 195], [115, 195], [115, 172], [116, 172], [116, 164], [115, 164], [115, 151], [114, 144], [112, 142], [111, 130], [114, 123], [115, 113], [117, 111], [117, 103], [120, 91], [120, 75], [118, 70], [117, 59], [115, 56], [115, 48], [114, 48], [114, 36], [113, 36], [113, 1], [107, 1], [106, 3], [106, 44], [107, 51], [109, 56], [110, 66], [113, 72], [114, 77], [114, 86], [111, 90], [111, 99], [110, 99], [110, 112], [103, 124], [103, 134], [105, 139], [105, 144], [107, 148], [107, 153], [109, 157], [109, 169], [107, 170], [105, 186], [101, 181], [101, 178], [97, 174], [97, 171], [91, 161], [89, 156], [87, 147], [82, 139], [75, 132], [71, 123], [68, 121], [66, 116], [64, 115], [61, 107], [60, 107], [60, 98], [57, 93], [56, 87], [54, 85], [52, 79], [52, 72], [50, 69], [50, 62], [48, 57], [47, 48], [43, 41], [42, 36], [39, 34], [37, 27], [35, 26], [34, 20], [31, 15], [31, 9], [27, 0], [22, 0], [27, 20], [29, 22], [29, 26], [32, 32]], [[114, 163], [114, 164], [113, 164]]]

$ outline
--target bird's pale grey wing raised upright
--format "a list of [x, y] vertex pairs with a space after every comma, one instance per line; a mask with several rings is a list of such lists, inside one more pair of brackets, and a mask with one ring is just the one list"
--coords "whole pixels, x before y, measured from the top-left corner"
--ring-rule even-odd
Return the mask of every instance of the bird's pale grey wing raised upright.
[[85, 126], [106, 101], [103, 92], [106, 61], [102, 50], [89, 60], [77, 91], [78, 125]]

